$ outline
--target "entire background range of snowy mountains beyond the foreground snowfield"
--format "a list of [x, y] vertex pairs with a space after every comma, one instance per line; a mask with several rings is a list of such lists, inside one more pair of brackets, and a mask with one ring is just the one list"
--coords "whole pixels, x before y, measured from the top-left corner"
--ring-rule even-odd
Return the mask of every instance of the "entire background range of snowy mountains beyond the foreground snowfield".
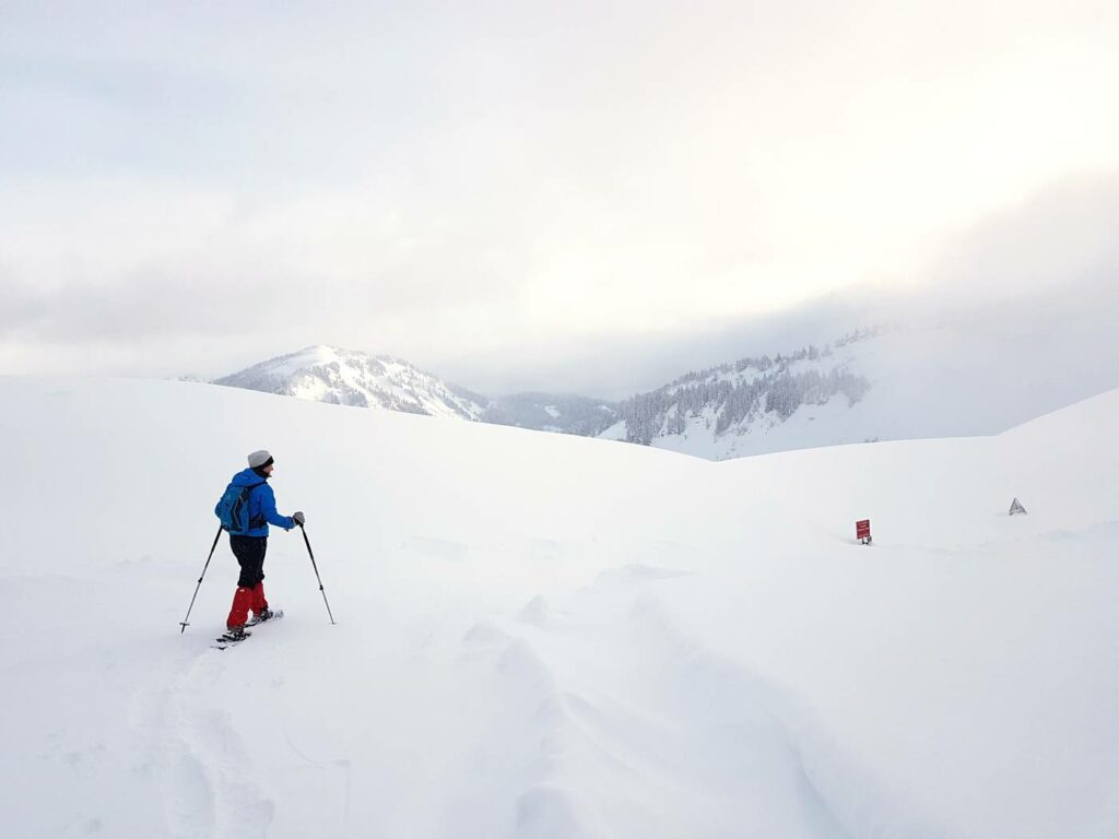
[[888, 321], [680, 376], [620, 405], [498, 399], [405, 361], [311, 347], [218, 379], [318, 402], [601, 436], [727, 460], [885, 440], [997, 434], [1119, 387], [1108, 284]]

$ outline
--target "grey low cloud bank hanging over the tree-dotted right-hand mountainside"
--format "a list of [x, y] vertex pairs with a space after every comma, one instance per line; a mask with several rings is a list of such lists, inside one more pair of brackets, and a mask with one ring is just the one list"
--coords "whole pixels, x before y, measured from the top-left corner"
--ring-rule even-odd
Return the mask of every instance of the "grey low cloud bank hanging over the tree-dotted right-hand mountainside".
[[692, 369], [877, 324], [974, 329], [1008, 347], [1028, 334], [1070, 364], [1093, 364], [1093, 352], [1119, 333], [1119, 172], [1051, 185], [961, 229], [915, 282], [859, 284], [779, 312], [675, 331], [532, 341], [515, 360], [495, 352], [435, 368], [482, 393], [552, 388], [618, 399]]

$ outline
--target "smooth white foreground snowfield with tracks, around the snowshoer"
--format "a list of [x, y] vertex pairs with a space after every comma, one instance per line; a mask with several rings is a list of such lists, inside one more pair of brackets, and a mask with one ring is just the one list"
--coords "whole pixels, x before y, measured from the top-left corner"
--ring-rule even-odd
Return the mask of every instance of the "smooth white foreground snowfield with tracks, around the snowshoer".
[[[1117, 423], [1111, 392], [998, 436], [713, 463], [0, 379], [0, 828], [1115, 836]], [[286, 616], [216, 651], [225, 541], [178, 622], [262, 446], [338, 625], [273, 531]]]

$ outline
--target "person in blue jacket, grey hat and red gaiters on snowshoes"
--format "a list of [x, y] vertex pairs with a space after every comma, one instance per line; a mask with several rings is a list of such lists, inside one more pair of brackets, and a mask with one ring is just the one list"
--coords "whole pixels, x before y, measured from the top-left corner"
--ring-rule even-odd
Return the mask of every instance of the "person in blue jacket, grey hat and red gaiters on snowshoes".
[[250, 612], [254, 615], [254, 623], [272, 618], [272, 610], [264, 596], [264, 554], [269, 547], [269, 525], [291, 530], [307, 521], [302, 510], [291, 516], [276, 512], [275, 494], [267, 483], [274, 469], [272, 455], [262, 449], [248, 455], [248, 469], [235, 474], [229, 484], [252, 488], [248, 491], [248, 529], [229, 534], [229, 547], [241, 565], [233, 607], [225, 622], [227, 634], [233, 638], [245, 633]]

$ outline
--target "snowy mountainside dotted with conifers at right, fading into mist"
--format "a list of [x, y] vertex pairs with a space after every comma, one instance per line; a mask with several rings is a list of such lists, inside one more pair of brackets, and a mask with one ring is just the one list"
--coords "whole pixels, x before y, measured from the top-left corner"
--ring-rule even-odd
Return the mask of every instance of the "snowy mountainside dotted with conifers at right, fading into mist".
[[1119, 353], [1102, 350], [1111, 336], [1099, 322], [1056, 336], [1052, 324], [1008, 330], [986, 317], [861, 330], [683, 376], [622, 403], [601, 436], [725, 460], [997, 434], [1119, 387]]

